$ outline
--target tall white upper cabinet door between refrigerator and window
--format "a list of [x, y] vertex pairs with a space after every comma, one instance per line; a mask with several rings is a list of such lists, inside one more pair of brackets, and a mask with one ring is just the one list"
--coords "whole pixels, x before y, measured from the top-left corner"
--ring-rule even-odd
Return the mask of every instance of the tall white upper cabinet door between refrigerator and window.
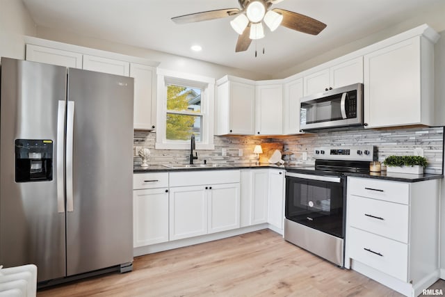
[[156, 68], [130, 63], [134, 78], [133, 128], [152, 130], [156, 122]]

